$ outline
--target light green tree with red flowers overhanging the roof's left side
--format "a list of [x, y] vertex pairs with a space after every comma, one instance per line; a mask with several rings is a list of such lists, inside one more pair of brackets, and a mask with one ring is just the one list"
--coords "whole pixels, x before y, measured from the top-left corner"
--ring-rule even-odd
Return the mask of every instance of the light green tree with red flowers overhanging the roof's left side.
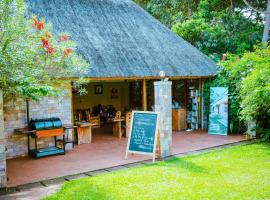
[[57, 39], [50, 24], [25, 16], [23, 0], [0, 0], [0, 90], [6, 99], [57, 95], [89, 65], [67, 33]]

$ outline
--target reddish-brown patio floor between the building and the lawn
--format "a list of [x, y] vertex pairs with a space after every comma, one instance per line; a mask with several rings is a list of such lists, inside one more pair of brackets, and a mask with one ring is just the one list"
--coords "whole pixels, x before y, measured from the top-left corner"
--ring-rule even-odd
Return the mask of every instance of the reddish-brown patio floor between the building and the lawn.
[[[220, 146], [245, 140], [243, 135], [218, 136], [205, 132], [177, 132], [173, 134], [173, 154]], [[66, 155], [35, 160], [29, 157], [7, 160], [8, 186], [16, 186], [45, 179], [124, 165], [151, 159], [133, 155], [125, 160], [127, 138], [112, 136], [111, 129], [95, 129], [91, 144], [75, 146]]]

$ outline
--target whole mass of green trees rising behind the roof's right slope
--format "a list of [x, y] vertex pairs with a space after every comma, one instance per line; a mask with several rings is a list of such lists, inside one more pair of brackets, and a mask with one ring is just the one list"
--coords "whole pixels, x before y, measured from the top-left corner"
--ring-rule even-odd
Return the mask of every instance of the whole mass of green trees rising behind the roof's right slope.
[[[262, 39], [263, 17], [243, 0], [136, 0], [214, 60], [224, 53], [243, 54]], [[261, 0], [257, 7], [265, 6]]]

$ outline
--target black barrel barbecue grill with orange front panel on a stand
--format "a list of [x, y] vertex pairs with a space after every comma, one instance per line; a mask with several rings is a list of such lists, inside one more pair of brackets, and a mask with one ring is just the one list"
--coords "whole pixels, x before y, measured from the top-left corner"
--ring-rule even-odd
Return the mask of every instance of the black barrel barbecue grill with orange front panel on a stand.
[[[18, 132], [27, 134], [28, 155], [34, 158], [41, 158], [51, 155], [65, 154], [65, 130], [72, 127], [63, 126], [59, 118], [35, 119], [31, 120], [29, 127], [17, 129]], [[54, 146], [38, 148], [38, 139], [54, 137]], [[58, 138], [57, 138], [58, 137]], [[59, 139], [61, 137], [61, 139]], [[34, 139], [34, 148], [31, 148], [31, 139]], [[59, 145], [61, 143], [61, 146]]]

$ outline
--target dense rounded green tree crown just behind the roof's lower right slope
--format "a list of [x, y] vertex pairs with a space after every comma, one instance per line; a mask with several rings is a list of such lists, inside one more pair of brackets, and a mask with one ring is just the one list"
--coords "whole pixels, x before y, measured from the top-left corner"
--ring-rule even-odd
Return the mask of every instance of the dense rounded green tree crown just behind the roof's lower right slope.
[[172, 30], [218, 61], [224, 53], [241, 55], [261, 40], [263, 27], [241, 11], [212, 10], [212, 1], [201, 1], [192, 18]]

